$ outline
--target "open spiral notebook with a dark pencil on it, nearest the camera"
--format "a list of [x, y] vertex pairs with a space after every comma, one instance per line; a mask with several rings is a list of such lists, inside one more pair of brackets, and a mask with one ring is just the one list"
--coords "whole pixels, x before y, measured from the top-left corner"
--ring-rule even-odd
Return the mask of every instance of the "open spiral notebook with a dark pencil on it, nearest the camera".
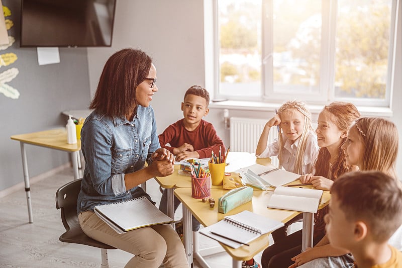
[[263, 234], [272, 232], [284, 226], [276, 221], [256, 213], [244, 210], [232, 216], [226, 216], [223, 220], [199, 230], [200, 234], [238, 248], [248, 245], [249, 242]]

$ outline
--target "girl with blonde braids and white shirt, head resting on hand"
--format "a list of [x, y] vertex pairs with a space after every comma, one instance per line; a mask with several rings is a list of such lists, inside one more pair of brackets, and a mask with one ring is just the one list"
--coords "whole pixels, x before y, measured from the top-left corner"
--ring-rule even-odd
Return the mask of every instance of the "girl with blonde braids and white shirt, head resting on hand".
[[[269, 131], [278, 128], [279, 137], [267, 144]], [[264, 126], [255, 151], [257, 157], [278, 156], [279, 168], [297, 174], [312, 172], [318, 153], [311, 113], [303, 102], [284, 103]]]

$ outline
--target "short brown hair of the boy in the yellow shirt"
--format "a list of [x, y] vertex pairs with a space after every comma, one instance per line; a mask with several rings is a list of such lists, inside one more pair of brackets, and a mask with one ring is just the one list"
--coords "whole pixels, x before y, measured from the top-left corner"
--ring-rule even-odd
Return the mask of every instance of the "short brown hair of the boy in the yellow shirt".
[[377, 243], [387, 241], [402, 224], [402, 188], [380, 171], [345, 173], [331, 188], [349, 221], [362, 221]]

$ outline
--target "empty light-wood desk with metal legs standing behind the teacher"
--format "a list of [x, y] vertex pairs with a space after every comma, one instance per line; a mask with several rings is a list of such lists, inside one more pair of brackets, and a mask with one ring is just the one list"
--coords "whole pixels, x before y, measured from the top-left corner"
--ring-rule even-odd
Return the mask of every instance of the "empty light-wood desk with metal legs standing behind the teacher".
[[11, 136], [11, 139], [20, 141], [22, 165], [23, 165], [23, 172], [24, 172], [24, 182], [25, 182], [25, 192], [27, 195], [28, 217], [29, 217], [29, 222], [33, 223], [31, 192], [30, 192], [29, 174], [28, 174], [28, 162], [27, 162], [27, 154], [26, 154], [25, 146], [24, 146], [25, 143], [37, 145], [37, 146], [41, 146], [41, 147], [45, 147], [45, 148], [69, 152], [71, 155], [72, 166], [73, 166], [73, 170], [74, 170], [74, 179], [77, 179], [79, 177], [77, 152], [79, 150], [81, 150], [81, 141], [77, 141], [76, 144], [68, 144], [67, 143], [67, 131], [65, 128], [45, 130], [45, 131], [20, 134], [20, 135], [13, 135], [13, 136]]

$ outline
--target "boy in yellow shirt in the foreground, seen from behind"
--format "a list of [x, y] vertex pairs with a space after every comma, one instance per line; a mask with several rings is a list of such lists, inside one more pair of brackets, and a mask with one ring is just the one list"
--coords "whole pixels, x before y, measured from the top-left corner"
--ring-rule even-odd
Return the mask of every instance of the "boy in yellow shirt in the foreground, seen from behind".
[[348, 172], [331, 188], [325, 216], [328, 239], [350, 250], [355, 267], [402, 267], [402, 253], [388, 239], [402, 224], [402, 189], [379, 171]]

